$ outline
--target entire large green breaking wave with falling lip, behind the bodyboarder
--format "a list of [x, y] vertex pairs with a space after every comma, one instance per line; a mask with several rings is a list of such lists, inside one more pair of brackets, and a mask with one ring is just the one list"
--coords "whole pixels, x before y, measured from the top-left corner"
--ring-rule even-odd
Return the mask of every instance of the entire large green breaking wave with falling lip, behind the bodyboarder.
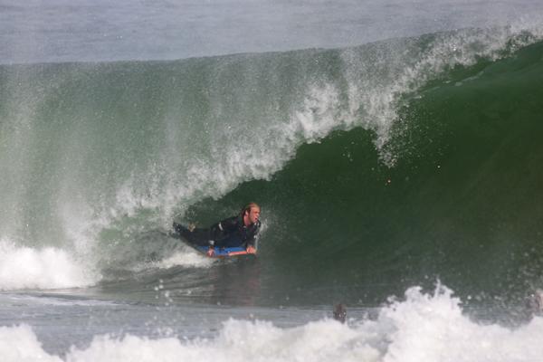
[[543, 256], [542, 54], [536, 33], [495, 29], [2, 66], [0, 240], [115, 281], [178, 252], [153, 234], [174, 217], [210, 224], [255, 201], [257, 262], [160, 272], [218, 300], [244, 293], [224, 287], [242, 272], [255, 303], [378, 302], [437, 279], [519, 295]]

